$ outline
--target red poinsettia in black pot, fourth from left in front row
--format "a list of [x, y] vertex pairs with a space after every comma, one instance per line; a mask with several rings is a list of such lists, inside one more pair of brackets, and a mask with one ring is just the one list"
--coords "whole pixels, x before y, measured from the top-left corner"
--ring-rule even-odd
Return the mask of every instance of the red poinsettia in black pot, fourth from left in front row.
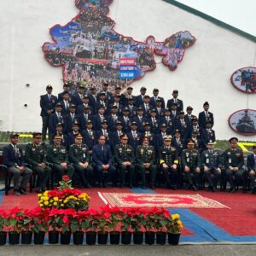
[[32, 209], [32, 232], [34, 234], [34, 244], [44, 244], [45, 232], [48, 232], [48, 216], [49, 209], [42, 209], [40, 207]]

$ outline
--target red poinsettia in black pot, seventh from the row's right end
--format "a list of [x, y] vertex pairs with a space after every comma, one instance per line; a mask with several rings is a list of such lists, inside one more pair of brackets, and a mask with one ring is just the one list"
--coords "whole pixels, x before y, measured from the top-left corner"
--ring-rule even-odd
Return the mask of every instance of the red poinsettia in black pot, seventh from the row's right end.
[[108, 227], [110, 212], [106, 208], [101, 208], [101, 214], [98, 216], [98, 244], [107, 244], [108, 241]]

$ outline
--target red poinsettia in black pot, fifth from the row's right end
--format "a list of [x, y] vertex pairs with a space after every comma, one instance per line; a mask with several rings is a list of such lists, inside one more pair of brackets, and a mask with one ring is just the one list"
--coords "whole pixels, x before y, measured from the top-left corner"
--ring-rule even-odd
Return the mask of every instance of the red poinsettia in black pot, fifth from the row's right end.
[[131, 214], [129, 208], [122, 208], [120, 211], [121, 218], [121, 243], [131, 244]]

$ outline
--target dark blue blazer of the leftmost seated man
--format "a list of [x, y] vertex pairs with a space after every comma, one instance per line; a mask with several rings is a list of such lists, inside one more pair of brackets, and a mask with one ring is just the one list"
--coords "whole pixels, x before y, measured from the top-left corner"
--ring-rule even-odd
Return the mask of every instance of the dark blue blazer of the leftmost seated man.
[[11, 144], [3, 148], [3, 165], [7, 167], [12, 167], [15, 165], [25, 166], [22, 149], [19, 148], [18, 146], [16, 147], [17, 147], [17, 153], [15, 153], [15, 149]]

